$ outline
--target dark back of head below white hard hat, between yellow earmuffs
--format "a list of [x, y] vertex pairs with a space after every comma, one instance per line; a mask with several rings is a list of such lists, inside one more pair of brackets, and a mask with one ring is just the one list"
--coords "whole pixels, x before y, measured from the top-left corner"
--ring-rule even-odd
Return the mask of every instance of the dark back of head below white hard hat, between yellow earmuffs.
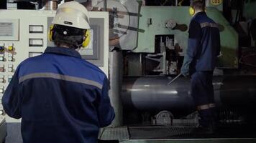
[[[56, 46], [65, 44], [70, 49], [78, 49], [83, 43], [84, 29], [77, 29], [69, 26], [55, 25], [54, 28], [53, 42]], [[65, 33], [67, 34], [64, 34]]]

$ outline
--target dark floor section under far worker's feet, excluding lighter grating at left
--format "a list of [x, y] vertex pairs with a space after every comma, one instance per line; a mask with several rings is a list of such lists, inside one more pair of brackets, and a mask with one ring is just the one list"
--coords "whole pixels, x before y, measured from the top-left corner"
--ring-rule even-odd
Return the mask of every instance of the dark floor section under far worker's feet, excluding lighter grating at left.
[[256, 128], [246, 125], [221, 126], [214, 134], [194, 134], [193, 126], [129, 127], [130, 139], [219, 139], [256, 138]]

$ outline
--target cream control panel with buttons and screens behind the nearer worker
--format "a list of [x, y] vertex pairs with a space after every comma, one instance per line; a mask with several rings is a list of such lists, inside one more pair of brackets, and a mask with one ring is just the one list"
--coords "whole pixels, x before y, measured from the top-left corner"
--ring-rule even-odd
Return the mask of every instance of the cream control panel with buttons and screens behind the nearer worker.
[[[0, 102], [19, 63], [42, 54], [47, 46], [47, 31], [55, 11], [0, 11]], [[109, 75], [109, 14], [90, 11], [91, 43], [79, 52], [83, 59], [99, 66]], [[40, 65], [38, 65], [40, 66]], [[0, 111], [3, 110], [0, 103]], [[19, 122], [6, 117], [6, 122]]]

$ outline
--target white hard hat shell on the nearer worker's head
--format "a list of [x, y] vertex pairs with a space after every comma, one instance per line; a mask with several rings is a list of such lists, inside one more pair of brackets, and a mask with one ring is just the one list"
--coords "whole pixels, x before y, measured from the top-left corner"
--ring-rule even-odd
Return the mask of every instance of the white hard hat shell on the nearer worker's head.
[[76, 1], [61, 4], [52, 20], [52, 24], [71, 26], [78, 29], [90, 29], [88, 22], [89, 17], [86, 7]]

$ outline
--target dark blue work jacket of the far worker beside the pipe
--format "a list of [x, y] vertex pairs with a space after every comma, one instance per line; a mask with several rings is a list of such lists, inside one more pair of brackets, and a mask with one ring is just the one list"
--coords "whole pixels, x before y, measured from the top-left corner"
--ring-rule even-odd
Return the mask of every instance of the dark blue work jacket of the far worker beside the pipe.
[[192, 71], [213, 71], [220, 54], [219, 26], [205, 12], [199, 12], [189, 25], [188, 49], [184, 63]]

